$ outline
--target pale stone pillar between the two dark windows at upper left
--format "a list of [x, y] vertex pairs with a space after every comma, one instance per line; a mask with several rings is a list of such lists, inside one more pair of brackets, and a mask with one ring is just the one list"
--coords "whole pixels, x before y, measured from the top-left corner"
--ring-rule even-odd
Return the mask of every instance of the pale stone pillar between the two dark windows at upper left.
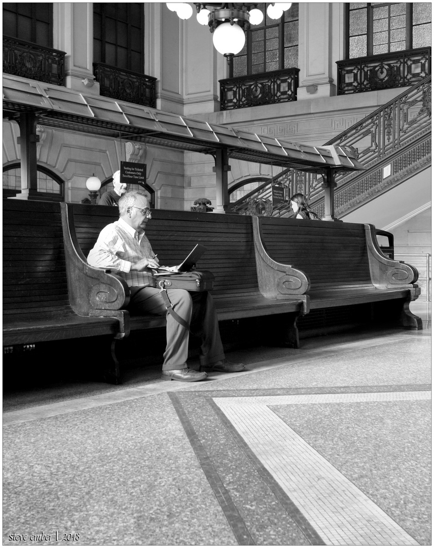
[[66, 52], [65, 85], [80, 93], [99, 95], [92, 66], [94, 12], [91, 2], [53, 4], [53, 46]]

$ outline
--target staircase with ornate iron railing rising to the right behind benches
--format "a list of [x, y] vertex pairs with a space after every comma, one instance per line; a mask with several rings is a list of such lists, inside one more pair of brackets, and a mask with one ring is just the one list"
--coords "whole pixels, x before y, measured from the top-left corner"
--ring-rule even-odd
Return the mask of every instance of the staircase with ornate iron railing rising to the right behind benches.
[[[343, 172], [335, 177], [335, 217], [340, 218], [362, 204], [387, 192], [431, 165], [431, 76], [381, 106], [361, 122], [340, 133], [325, 145], [342, 146], [356, 153], [366, 171]], [[232, 213], [248, 215], [261, 204], [271, 216], [290, 210], [286, 201], [271, 207], [271, 186], [285, 189], [287, 199], [303, 193], [322, 217], [322, 176], [285, 169], [273, 179], [230, 205]]]

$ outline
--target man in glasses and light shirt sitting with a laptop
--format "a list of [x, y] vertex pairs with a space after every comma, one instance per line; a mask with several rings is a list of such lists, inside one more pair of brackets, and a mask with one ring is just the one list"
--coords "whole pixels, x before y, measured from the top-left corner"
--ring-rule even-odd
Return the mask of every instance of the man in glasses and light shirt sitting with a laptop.
[[[194, 382], [206, 378], [206, 370], [234, 373], [244, 369], [243, 364], [230, 363], [224, 357], [218, 329], [217, 314], [209, 293], [205, 304], [203, 293], [189, 293], [185, 289], [167, 289], [173, 310], [188, 324], [201, 317], [202, 344], [200, 348], [200, 371], [187, 367], [189, 332], [166, 310], [160, 290], [155, 287], [151, 269], [159, 262], [144, 234], [151, 219], [149, 202], [143, 192], [127, 192], [119, 199], [119, 220], [103, 228], [91, 249], [89, 265], [112, 269], [123, 277], [131, 291], [128, 306], [132, 314], [151, 313], [166, 316], [166, 350], [164, 352], [164, 380]], [[199, 309], [199, 310], [198, 310]]]

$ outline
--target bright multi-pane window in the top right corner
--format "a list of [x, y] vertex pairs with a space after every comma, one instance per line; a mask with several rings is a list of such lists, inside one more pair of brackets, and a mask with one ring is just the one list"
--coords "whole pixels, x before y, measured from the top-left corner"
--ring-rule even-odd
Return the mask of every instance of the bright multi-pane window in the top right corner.
[[431, 45], [431, 3], [361, 3], [348, 7], [346, 59]]

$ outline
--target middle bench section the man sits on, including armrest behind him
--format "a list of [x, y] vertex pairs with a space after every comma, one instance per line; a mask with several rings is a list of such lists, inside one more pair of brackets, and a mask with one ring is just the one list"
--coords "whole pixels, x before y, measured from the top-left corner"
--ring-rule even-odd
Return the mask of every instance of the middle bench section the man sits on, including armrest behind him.
[[[113, 382], [120, 379], [116, 340], [132, 331], [165, 326], [159, 316], [130, 316], [127, 310], [129, 288], [117, 274], [95, 269], [86, 257], [101, 229], [118, 219], [117, 209], [83, 204], [61, 204], [65, 241], [68, 289], [73, 309], [88, 317], [115, 317], [118, 333], [114, 336]], [[304, 295], [270, 301], [258, 287], [251, 219], [239, 215], [219, 215], [153, 210], [147, 225], [147, 237], [158, 254], [160, 264], [180, 264], [196, 243], [207, 251], [198, 269], [211, 270], [216, 279], [212, 291], [218, 319], [279, 316], [283, 344], [298, 345], [294, 333], [297, 316], [305, 309]]]

